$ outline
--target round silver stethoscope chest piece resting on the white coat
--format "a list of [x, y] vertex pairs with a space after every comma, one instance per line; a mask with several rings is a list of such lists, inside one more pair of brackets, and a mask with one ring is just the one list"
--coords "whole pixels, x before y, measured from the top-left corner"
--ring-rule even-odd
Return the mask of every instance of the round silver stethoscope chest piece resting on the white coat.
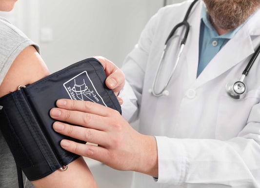
[[246, 94], [246, 86], [242, 81], [231, 81], [226, 84], [226, 92], [233, 99], [242, 99]]

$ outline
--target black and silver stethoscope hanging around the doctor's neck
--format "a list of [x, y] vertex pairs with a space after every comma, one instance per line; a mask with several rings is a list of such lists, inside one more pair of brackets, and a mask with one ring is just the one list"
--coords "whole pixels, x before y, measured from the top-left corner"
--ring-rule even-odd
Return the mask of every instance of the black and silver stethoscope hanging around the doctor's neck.
[[[189, 29], [190, 29], [190, 25], [187, 21], [188, 19], [188, 16], [191, 12], [191, 9], [193, 8], [194, 4], [197, 2], [198, 0], [194, 0], [191, 5], [189, 6], [187, 12], [186, 12], [186, 15], [183, 19], [182, 22], [178, 23], [171, 31], [171, 33], [169, 34], [165, 44], [164, 44], [164, 49], [163, 49], [163, 52], [162, 52], [162, 55], [160, 57], [160, 63], [157, 67], [157, 71], [156, 71], [156, 75], [155, 75], [155, 79], [153, 81], [153, 85], [152, 85], [152, 89], [149, 89], [149, 93], [151, 93], [152, 95], [154, 95], [155, 97], [160, 97], [160, 96], [168, 96], [169, 95], [169, 91], [166, 90], [166, 87], [168, 86], [171, 78], [172, 78], [172, 75], [179, 63], [179, 60], [180, 60], [180, 55], [182, 53], [182, 50], [184, 48], [184, 45], [187, 41], [187, 37], [188, 37], [188, 34], [189, 34]], [[160, 71], [160, 68], [161, 68], [161, 63], [164, 59], [164, 56], [165, 56], [165, 53], [168, 49], [168, 44], [169, 44], [169, 40], [172, 38], [172, 36], [175, 34], [176, 30], [181, 27], [181, 26], [184, 26], [185, 27], [185, 34], [184, 34], [184, 37], [180, 43], [180, 50], [179, 50], [179, 53], [178, 53], [178, 56], [177, 56], [177, 59], [176, 59], [176, 63], [170, 73], [170, 76], [168, 77], [168, 80], [166, 82], [166, 84], [163, 86], [163, 88], [160, 90], [160, 92], [156, 92], [155, 91], [155, 85], [157, 83], [157, 80], [158, 80], [158, 74], [159, 74], [159, 71]], [[249, 61], [249, 63], [247, 64], [246, 68], [244, 69], [244, 71], [242, 72], [242, 76], [240, 78], [240, 80], [232, 80], [230, 82], [228, 82], [226, 84], [226, 92], [227, 94], [232, 97], [233, 99], [242, 99], [245, 94], [246, 94], [246, 85], [244, 83], [244, 79], [245, 77], [247, 76], [249, 70], [251, 69], [252, 65], [254, 64], [255, 60], [257, 59], [258, 55], [260, 53], [260, 46], [258, 47], [257, 51], [254, 53], [253, 57], [251, 58], [251, 60]]]

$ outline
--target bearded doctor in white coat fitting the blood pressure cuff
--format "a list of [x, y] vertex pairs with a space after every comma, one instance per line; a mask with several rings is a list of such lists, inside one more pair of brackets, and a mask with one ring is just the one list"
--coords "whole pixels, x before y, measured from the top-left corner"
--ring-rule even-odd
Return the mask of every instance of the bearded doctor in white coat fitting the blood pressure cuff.
[[[259, 188], [260, 58], [244, 80], [244, 98], [231, 98], [225, 86], [240, 79], [260, 45], [260, 0], [199, 0], [188, 16], [190, 33], [166, 87], [169, 95], [148, 92], [164, 42], [191, 2], [164, 7], [147, 23], [121, 69], [125, 84], [120, 70], [99, 58], [110, 70], [106, 84], [120, 90], [123, 117], [140, 118], [140, 133], [112, 109], [71, 100], [59, 100], [51, 116], [84, 127], [56, 122], [54, 129], [99, 144], [63, 140], [64, 149], [141, 172], [133, 188]], [[170, 40], [156, 92], [167, 83], [184, 31]]]

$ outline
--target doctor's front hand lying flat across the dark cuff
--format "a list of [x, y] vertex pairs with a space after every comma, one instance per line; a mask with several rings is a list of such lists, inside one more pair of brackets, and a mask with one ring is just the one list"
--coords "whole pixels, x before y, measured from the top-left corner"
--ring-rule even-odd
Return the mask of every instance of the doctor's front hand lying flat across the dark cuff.
[[60, 134], [98, 146], [62, 140], [60, 145], [73, 153], [100, 161], [119, 169], [132, 170], [158, 177], [156, 139], [135, 131], [120, 113], [89, 101], [62, 99], [50, 111], [53, 128]]

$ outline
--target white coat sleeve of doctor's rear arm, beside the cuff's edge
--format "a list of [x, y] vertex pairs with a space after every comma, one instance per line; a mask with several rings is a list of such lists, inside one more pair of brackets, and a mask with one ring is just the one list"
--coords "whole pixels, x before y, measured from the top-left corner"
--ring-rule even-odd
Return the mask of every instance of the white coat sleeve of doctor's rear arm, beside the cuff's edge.
[[[138, 44], [124, 60], [121, 70], [125, 74], [126, 84], [119, 97], [123, 99], [122, 116], [133, 122], [138, 119], [142, 97], [143, 80], [149, 56], [158, 13], [154, 15], [143, 29]], [[135, 106], [135, 107], [134, 107]]]

